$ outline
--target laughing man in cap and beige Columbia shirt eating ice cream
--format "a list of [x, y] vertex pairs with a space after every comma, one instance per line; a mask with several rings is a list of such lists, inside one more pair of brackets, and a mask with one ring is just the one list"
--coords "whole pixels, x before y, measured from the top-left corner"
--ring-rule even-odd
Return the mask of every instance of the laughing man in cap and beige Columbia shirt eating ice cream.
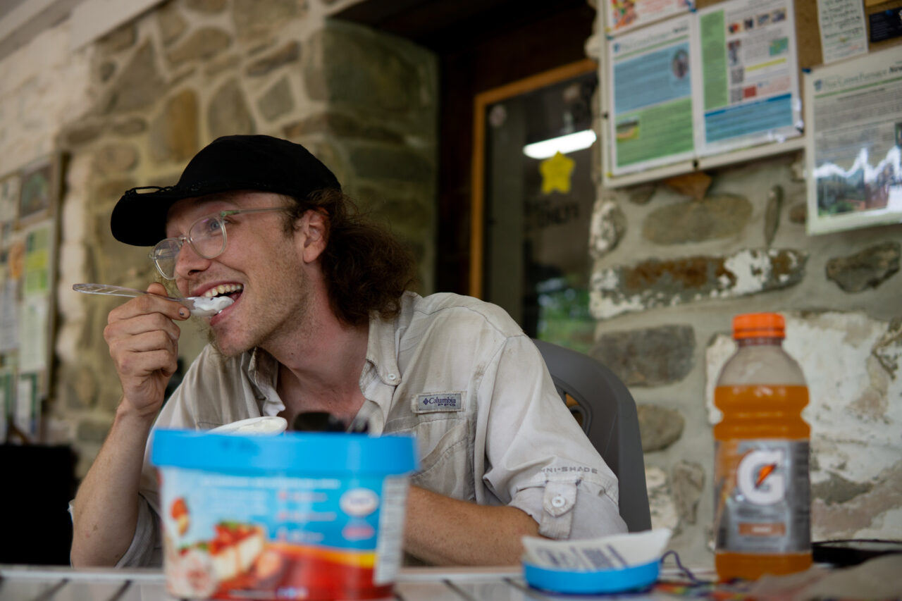
[[422, 561], [513, 564], [524, 534], [625, 532], [616, 478], [529, 337], [491, 304], [405, 292], [409, 255], [299, 144], [218, 138], [174, 187], [126, 192], [111, 227], [127, 244], [156, 245], [157, 269], [181, 295], [235, 302], [208, 318], [211, 344], [165, 405], [188, 310], [145, 295], [110, 312], [123, 396], [73, 502], [73, 565], [161, 561], [152, 428], [292, 423], [304, 411], [417, 436], [404, 548]]

